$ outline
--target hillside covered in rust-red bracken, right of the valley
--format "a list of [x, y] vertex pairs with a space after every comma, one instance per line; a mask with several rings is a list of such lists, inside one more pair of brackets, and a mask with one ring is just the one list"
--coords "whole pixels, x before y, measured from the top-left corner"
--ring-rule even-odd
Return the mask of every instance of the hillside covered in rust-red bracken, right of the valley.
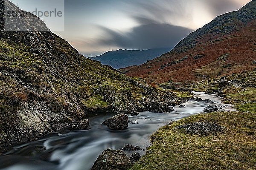
[[140, 66], [124, 68], [126, 75], [154, 85], [198, 81], [256, 67], [256, 0], [239, 11], [216, 17], [189, 34], [169, 53]]

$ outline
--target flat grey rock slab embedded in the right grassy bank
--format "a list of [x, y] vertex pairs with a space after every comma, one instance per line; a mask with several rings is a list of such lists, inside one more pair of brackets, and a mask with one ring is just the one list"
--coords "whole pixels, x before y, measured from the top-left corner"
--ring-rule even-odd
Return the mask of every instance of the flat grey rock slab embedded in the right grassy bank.
[[190, 134], [209, 135], [212, 133], [223, 132], [225, 127], [210, 122], [196, 122], [176, 127], [177, 129], [185, 129]]

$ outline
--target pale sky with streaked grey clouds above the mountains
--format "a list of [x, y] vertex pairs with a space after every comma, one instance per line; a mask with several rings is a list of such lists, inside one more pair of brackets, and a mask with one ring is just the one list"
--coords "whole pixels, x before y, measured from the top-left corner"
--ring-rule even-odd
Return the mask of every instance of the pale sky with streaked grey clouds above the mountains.
[[[12, 2], [29, 10], [29, 4], [35, 0]], [[45, 0], [37, 2], [46, 4]], [[248, 2], [250, 0], [65, 0], [64, 31], [54, 32], [86, 57], [117, 49], [172, 48], [216, 16], [238, 10]]]

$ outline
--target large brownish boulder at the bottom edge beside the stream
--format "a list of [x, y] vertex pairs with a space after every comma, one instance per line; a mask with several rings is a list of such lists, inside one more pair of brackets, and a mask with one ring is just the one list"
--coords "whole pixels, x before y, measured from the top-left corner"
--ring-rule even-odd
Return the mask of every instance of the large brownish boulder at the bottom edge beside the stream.
[[130, 166], [131, 161], [124, 151], [107, 149], [97, 158], [91, 170], [126, 170]]

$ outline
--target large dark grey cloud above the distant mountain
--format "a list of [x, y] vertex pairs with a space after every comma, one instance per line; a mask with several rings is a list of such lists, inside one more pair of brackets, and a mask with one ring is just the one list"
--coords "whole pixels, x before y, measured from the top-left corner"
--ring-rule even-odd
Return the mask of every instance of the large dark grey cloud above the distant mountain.
[[101, 27], [108, 38], [98, 40], [99, 45], [116, 45], [128, 49], [170, 48], [193, 31], [142, 17], [137, 17], [137, 20], [147, 24], [134, 27], [125, 33]]

